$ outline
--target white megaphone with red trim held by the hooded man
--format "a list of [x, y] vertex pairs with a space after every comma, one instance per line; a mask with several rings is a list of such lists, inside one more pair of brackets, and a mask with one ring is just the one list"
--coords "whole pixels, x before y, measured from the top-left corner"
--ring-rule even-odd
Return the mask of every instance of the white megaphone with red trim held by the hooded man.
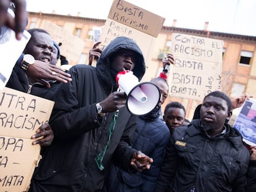
[[134, 115], [148, 114], [160, 102], [158, 87], [150, 82], [139, 83], [139, 79], [131, 71], [117, 73], [116, 82], [119, 89], [127, 94], [126, 106]]

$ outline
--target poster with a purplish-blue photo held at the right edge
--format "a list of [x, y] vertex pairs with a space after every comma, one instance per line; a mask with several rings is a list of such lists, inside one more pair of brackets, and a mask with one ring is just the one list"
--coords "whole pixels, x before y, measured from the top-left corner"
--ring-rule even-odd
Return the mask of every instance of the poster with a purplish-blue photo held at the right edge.
[[246, 100], [233, 125], [249, 146], [256, 145], [256, 100]]

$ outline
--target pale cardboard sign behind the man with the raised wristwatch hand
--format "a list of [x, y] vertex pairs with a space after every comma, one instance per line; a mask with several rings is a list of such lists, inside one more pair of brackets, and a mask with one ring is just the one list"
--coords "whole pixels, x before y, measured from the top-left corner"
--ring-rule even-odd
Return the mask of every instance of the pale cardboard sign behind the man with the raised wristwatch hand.
[[54, 23], [45, 21], [43, 29], [48, 31], [56, 43], [62, 43], [60, 46], [61, 55], [65, 56], [69, 61], [79, 61], [80, 54], [85, 46], [85, 41], [81, 40], [77, 36], [72, 35], [64, 28], [55, 25]]

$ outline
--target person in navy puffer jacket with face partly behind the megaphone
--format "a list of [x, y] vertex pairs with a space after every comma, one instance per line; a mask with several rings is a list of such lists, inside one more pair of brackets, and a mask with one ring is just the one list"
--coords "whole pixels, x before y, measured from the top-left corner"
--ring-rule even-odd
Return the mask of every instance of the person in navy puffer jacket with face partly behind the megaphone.
[[111, 167], [111, 172], [105, 181], [104, 191], [150, 192], [155, 189], [156, 179], [164, 158], [164, 149], [170, 138], [168, 127], [159, 118], [161, 104], [168, 96], [169, 86], [163, 78], [154, 78], [151, 83], [158, 86], [161, 91], [160, 103], [149, 114], [138, 118], [134, 138], [132, 139], [132, 148], [152, 157], [154, 162], [149, 170], [134, 175], [124, 172], [117, 166]]

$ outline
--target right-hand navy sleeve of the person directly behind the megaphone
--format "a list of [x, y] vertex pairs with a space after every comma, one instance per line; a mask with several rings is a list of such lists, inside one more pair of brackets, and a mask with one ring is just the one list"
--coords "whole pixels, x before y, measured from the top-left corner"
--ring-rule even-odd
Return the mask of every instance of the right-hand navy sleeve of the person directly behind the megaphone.
[[151, 164], [149, 170], [143, 170], [142, 172], [143, 185], [140, 187], [140, 191], [154, 191], [156, 180], [160, 173], [160, 167], [163, 163], [164, 151], [169, 139], [169, 131], [163, 131], [160, 134], [155, 134], [153, 138], [151, 138], [151, 142], [155, 142], [155, 149], [150, 154], [148, 154], [148, 156], [153, 159], [153, 163]]

